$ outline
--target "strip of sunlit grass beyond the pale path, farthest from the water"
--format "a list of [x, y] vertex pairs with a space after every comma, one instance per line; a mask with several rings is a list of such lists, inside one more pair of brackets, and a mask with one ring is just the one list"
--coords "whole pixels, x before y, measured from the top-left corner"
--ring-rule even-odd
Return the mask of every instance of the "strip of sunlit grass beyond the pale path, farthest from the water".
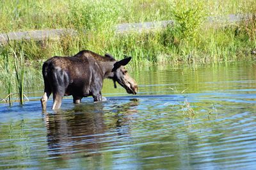
[[[179, 8], [187, 10], [187, 8], [197, 8], [200, 3], [204, 6], [206, 16], [248, 13], [255, 8], [254, 0], [1, 1], [0, 32], [62, 27], [102, 29], [112, 22], [170, 20], [173, 6], [176, 6], [177, 10]], [[184, 6], [184, 4], [188, 5]]]

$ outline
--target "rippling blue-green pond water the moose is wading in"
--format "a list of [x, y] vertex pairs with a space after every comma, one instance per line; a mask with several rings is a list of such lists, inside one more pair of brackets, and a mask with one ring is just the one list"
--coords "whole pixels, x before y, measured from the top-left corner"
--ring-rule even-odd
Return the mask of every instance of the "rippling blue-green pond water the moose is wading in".
[[256, 63], [131, 74], [140, 93], [105, 81], [104, 103], [1, 104], [0, 169], [255, 168]]

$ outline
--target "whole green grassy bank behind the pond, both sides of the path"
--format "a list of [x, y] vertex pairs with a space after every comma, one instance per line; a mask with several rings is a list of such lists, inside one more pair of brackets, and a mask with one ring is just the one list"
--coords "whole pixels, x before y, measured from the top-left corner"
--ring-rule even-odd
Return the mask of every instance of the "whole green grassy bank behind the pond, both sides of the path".
[[[34, 86], [31, 79], [42, 83], [38, 72], [45, 59], [51, 56], [71, 56], [83, 49], [99, 54], [108, 52], [116, 59], [126, 54], [132, 56], [133, 65], [177, 65], [254, 59], [250, 51], [256, 47], [255, 16], [233, 24], [209, 24], [206, 21], [209, 16], [256, 13], [254, 0], [19, 0], [0, 1], [0, 9], [0, 33], [55, 28], [77, 30], [77, 36], [63, 36], [60, 40], [12, 42], [17, 47], [22, 47], [24, 63], [20, 65], [29, 68], [24, 70], [25, 86]], [[116, 24], [154, 20], [175, 20], [175, 26], [144, 33], [115, 33]], [[12, 51], [11, 47], [6, 44], [0, 46], [1, 83], [5, 84], [6, 94], [19, 91], [20, 86], [19, 79], [18, 82], [15, 81], [15, 73], [20, 72], [19, 69], [15, 70], [14, 60], [12, 61], [13, 54], [19, 55], [20, 49], [14, 48]]]

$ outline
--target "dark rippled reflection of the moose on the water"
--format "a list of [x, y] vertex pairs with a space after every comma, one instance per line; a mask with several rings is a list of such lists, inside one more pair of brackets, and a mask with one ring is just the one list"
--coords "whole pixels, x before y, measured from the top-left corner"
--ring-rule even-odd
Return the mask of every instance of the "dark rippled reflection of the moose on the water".
[[67, 159], [72, 153], [99, 154], [100, 148], [112, 145], [111, 141], [129, 135], [129, 121], [137, 105], [138, 100], [132, 99], [124, 105], [113, 105], [110, 110], [97, 103], [75, 105], [69, 111], [54, 114], [45, 112], [50, 157]]

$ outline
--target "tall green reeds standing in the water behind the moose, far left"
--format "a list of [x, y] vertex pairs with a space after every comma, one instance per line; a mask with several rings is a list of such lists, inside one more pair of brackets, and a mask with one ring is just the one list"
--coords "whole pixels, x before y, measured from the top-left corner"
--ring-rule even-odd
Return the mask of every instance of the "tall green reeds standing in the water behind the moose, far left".
[[33, 68], [26, 69], [23, 43], [9, 43], [8, 50], [0, 54], [0, 57], [3, 59], [3, 62], [0, 63], [2, 71], [0, 81], [3, 89], [7, 92], [2, 101], [12, 105], [14, 100], [23, 105], [24, 98], [28, 100], [24, 93], [24, 86], [33, 88], [34, 83], [38, 82], [38, 78], [32, 79], [32, 77], [38, 75], [38, 73]]

